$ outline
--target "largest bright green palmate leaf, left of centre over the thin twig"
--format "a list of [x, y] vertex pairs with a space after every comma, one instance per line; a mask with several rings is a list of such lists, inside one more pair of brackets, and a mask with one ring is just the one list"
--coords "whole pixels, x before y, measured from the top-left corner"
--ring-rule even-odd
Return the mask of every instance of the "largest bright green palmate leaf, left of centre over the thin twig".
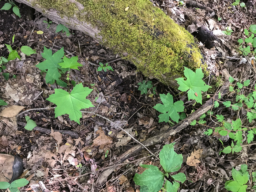
[[68, 114], [70, 120], [76, 121], [80, 125], [82, 117], [81, 109], [94, 107], [89, 99], [85, 99], [93, 89], [83, 87], [82, 83], [77, 84], [71, 93], [63, 89], [55, 89], [55, 93], [50, 95], [46, 100], [55, 103], [55, 117]]

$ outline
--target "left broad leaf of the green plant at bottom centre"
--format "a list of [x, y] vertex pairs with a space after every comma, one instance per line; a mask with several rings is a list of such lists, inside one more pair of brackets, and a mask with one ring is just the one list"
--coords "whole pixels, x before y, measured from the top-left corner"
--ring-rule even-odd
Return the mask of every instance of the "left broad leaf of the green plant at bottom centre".
[[[163, 173], [154, 165], [140, 165], [146, 168], [142, 174], [136, 173], [133, 180], [136, 185], [147, 186], [148, 192], [158, 192], [164, 181]], [[141, 187], [142, 188], [142, 187]]]

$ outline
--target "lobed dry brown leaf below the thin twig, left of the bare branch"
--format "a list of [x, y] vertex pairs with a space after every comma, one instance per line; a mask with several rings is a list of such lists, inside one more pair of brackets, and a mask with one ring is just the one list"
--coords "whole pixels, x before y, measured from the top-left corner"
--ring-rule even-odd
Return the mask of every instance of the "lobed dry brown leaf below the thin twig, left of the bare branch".
[[99, 136], [93, 140], [93, 146], [99, 146], [99, 149], [110, 148], [110, 145], [113, 143], [113, 139], [110, 136], [105, 135], [102, 129], [99, 129], [97, 132]]

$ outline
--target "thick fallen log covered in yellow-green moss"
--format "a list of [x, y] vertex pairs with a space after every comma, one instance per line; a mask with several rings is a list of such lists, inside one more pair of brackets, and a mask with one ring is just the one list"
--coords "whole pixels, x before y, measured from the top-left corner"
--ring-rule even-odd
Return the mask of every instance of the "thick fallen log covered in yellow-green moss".
[[145, 76], [174, 78], [206, 65], [193, 36], [149, 0], [16, 0], [53, 22], [82, 31], [131, 61]]

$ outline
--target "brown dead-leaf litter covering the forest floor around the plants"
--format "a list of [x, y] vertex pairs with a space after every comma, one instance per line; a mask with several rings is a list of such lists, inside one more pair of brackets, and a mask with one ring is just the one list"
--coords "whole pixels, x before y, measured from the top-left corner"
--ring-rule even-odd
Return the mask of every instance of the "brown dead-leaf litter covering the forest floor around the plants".
[[[223, 71], [226, 71], [236, 80], [251, 80], [248, 86], [251, 90], [242, 89], [244, 95], [255, 90], [255, 58], [251, 53], [246, 57], [242, 56], [238, 51], [237, 42], [239, 38], [245, 38], [244, 29], [256, 24], [255, 0], [244, 1], [245, 8], [240, 4], [232, 6], [234, 2], [229, 0], [200, 1], [204, 8], [196, 7], [198, 4], [191, 7], [188, 3], [182, 4], [182, 1], [152, 2], [186, 29], [190, 26], [189, 29], [196, 30], [198, 26], [191, 20], [197, 19], [200, 25], [206, 26], [230, 48], [231, 52], [225, 50], [223, 45], [216, 50], [206, 49], [203, 47], [204, 42], [198, 43], [210, 60], [209, 70], [215, 76], [215, 83], [219, 82], [218, 85], [221, 86], [221, 83], [226, 81], [223, 75]], [[0, 1], [0, 7], [3, 7], [4, 3]], [[20, 188], [20, 191], [36, 191], [32, 186], [42, 181], [47, 189], [54, 192], [139, 192], [140, 187], [133, 181], [135, 173], [141, 174], [144, 170], [139, 165], [143, 163], [160, 167], [158, 159], [150, 156], [146, 150], [127, 159], [123, 165], [116, 166], [116, 170], [104, 183], [94, 184], [102, 170], [112, 166], [119, 155], [136, 145], [136, 142], [117, 125], [139, 142], [171, 129], [173, 124], [170, 122], [158, 123], [159, 113], [153, 107], [161, 103], [159, 94], [180, 95], [179, 91], [159, 83], [156, 79], [150, 79], [156, 87], [156, 93], [153, 94], [151, 89], [147, 94], [141, 95], [138, 83], [149, 79], [136, 71], [136, 67], [129, 61], [121, 59], [120, 55], [114, 54], [79, 31], [70, 30], [69, 37], [62, 32], [55, 33], [56, 23], [51, 23], [48, 27], [48, 23], [43, 21], [49, 20], [41, 13], [23, 4], [16, 5], [20, 8], [21, 18], [11, 10], [0, 11], [0, 56], [8, 57], [9, 52], [5, 44], [17, 49], [21, 56], [20, 60], [4, 64], [6, 69], [0, 74], [0, 98], [8, 103], [7, 106], [1, 106], [1, 111], [9, 108], [8, 112], [2, 111], [0, 114], [0, 153], [18, 155], [23, 159], [24, 171], [21, 177], [27, 178], [30, 183]], [[224, 35], [222, 31], [229, 26], [233, 32], [231, 35]], [[44, 33], [38, 34], [37, 31]], [[29, 46], [37, 54], [22, 55], [21, 46]], [[83, 113], [78, 124], [71, 121], [67, 114], [54, 117], [54, 109], [47, 109], [54, 107], [54, 104], [46, 98], [54, 93], [54, 89], [61, 87], [47, 84], [45, 73], [35, 66], [44, 61], [41, 55], [44, 47], [52, 49], [53, 53], [63, 47], [65, 56], [78, 56], [78, 63], [82, 64], [82, 67], [78, 67], [79, 70], [71, 69], [69, 78], [93, 89], [87, 99], [97, 110], [87, 110], [107, 119]], [[109, 63], [113, 71], [97, 71], [99, 62]], [[9, 78], [6, 77], [8, 73]], [[67, 82], [66, 78], [67, 73], [62, 75], [63, 81]], [[214, 84], [208, 77], [205, 81], [207, 84]], [[64, 90], [69, 91], [65, 87]], [[96, 97], [98, 99], [95, 100]], [[174, 97], [174, 100], [177, 98], [178, 96]], [[236, 94], [232, 91], [223, 99], [231, 102], [235, 100]], [[198, 104], [192, 105], [192, 101], [187, 98], [184, 103], [185, 113], [182, 115], [185, 117], [200, 107]], [[13, 105], [16, 107], [10, 108]], [[28, 110], [36, 108], [41, 110]], [[24, 113], [20, 114], [21, 112]], [[246, 113], [242, 109], [234, 111], [220, 104], [219, 107], [212, 107], [211, 112], [214, 115], [222, 114], [230, 123], [241, 118], [245, 127], [255, 125], [254, 120], [251, 123], [247, 121]], [[37, 128], [32, 131], [24, 129], [25, 116], [35, 121]], [[219, 125], [207, 114], [202, 118], [205, 120], [203, 124], [189, 125], [164, 142], [148, 147], [149, 150], [159, 155], [165, 144], [176, 142], [175, 151], [183, 156], [180, 172], [187, 177], [187, 180], [180, 184], [179, 190], [182, 192], [225, 192], [225, 182], [232, 179], [232, 168], [240, 169], [242, 164], [248, 165], [250, 179], [247, 190], [252, 190], [251, 187], [255, 185], [252, 172], [256, 169], [256, 153], [255, 143], [252, 141], [247, 144], [245, 136], [248, 131], [243, 132], [245, 139], [241, 143], [242, 151], [234, 154], [219, 153], [223, 146], [230, 146], [232, 140], [228, 135], [221, 136], [218, 132], [210, 136], [205, 135], [204, 132], [209, 127], [216, 128]], [[66, 132], [61, 134], [58, 131]], [[194, 162], [193, 165], [191, 162]]]

